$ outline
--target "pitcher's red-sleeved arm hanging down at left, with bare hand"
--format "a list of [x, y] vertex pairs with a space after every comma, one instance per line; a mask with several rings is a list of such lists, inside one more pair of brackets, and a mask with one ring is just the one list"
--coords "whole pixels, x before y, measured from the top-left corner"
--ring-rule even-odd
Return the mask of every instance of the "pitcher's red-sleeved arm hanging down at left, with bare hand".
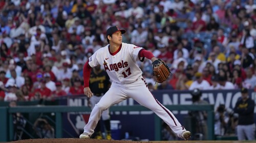
[[83, 65], [83, 92], [84, 95], [91, 98], [93, 96], [93, 93], [91, 92], [89, 88], [89, 80], [91, 75], [92, 67], [89, 65], [89, 61], [86, 62], [86, 64]]

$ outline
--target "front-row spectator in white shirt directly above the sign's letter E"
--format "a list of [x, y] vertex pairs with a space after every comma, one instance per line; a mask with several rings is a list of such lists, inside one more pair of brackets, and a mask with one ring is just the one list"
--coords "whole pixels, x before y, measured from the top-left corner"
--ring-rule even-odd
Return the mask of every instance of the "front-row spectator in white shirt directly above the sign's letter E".
[[208, 81], [204, 80], [202, 73], [197, 72], [195, 74], [196, 80], [193, 81], [189, 87], [189, 90], [199, 89], [199, 90], [209, 90], [210, 84]]

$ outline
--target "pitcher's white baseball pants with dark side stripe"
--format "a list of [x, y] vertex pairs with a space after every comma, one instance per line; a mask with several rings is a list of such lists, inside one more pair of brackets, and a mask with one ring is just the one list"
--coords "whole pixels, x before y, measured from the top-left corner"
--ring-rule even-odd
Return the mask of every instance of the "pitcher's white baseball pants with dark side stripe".
[[112, 82], [109, 91], [105, 93], [97, 104], [95, 104], [91, 112], [89, 122], [83, 128], [84, 132], [93, 134], [94, 129], [100, 120], [102, 111], [127, 98], [133, 98], [142, 106], [154, 111], [157, 116], [159, 116], [179, 137], [181, 137], [181, 133], [183, 131], [186, 131], [186, 129], [181, 126], [179, 121], [175, 118], [173, 113], [159, 103], [159, 101], [157, 101], [157, 99], [151, 94], [147, 88], [145, 80], [141, 76], [138, 80], [129, 84]]

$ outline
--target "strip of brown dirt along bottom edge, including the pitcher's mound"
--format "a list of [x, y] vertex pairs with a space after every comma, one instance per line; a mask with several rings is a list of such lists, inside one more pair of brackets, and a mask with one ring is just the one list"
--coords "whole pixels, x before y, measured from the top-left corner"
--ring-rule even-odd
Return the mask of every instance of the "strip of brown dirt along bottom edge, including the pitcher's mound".
[[[130, 140], [99, 140], [99, 139], [79, 139], [79, 138], [47, 138], [47, 139], [25, 139], [25, 140], [18, 140], [18, 141], [11, 141], [12, 143], [239, 143], [245, 141], [224, 141], [224, 140], [217, 140], [217, 141], [130, 141]], [[256, 142], [256, 141], [249, 141], [249, 142]]]

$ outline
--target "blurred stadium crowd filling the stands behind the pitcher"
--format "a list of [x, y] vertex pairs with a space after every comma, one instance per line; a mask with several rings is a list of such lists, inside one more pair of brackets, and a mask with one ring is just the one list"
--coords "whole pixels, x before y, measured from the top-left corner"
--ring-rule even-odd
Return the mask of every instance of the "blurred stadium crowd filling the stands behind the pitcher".
[[113, 25], [171, 67], [159, 84], [139, 63], [151, 91], [252, 89], [255, 20], [253, 0], [0, 0], [0, 100], [83, 94], [83, 64]]

